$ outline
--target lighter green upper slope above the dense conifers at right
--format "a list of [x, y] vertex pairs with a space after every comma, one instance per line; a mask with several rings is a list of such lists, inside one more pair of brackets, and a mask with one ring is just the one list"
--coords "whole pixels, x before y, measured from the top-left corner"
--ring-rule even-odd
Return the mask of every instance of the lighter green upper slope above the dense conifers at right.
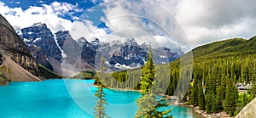
[[232, 38], [220, 42], [212, 42], [193, 49], [195, 59], [216, 59], [230, 56], [246, 56], [256, 52], [256, 37], [249, 40]]

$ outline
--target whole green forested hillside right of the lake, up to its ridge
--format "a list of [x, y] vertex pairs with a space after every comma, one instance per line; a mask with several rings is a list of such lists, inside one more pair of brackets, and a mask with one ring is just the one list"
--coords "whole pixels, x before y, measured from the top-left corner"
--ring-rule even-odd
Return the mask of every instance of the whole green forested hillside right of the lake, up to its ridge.
[[[233, 116], [256, 97], [256, 37], [212, 42], [193, 49], [192, 53], [192, 80], [187, 81], [189, 90], [179, 101], [199, 106], [207, 114], [225, 111]], [[155, 79], [160, 80], [165, 94], [173, 96], [182, 72], [180, 59], [156, 65], [155, 71]], [[103, 79], [107, 87], [140, 89], [140, 76], [141, 69], [138, 68], [115, 72]], [[252, 88], [246, 93], [239, 93], [237, 83], [251, 85]]]

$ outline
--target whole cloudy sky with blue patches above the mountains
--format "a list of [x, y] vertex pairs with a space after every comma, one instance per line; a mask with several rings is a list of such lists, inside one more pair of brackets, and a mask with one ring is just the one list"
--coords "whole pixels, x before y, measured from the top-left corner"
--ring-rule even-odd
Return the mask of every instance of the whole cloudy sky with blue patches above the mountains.
[[[205, 43], [256, 35], [254, 0], [0, 0], [16, 30], [44, 22], [77, 39], [135, 37], [188, 51]], [[110, 35], [111, 34], [111, 35]], [[151, 40], [152, 39], [152, 40]], [[152, 42], [151, 42], [152, 41]]]

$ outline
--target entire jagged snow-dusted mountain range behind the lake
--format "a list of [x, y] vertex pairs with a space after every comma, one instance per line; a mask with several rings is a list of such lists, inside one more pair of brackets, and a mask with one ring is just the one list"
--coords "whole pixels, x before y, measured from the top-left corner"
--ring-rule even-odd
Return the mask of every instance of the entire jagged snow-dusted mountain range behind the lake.
[[[57, 31], [53, 34], [42, 23], [20, 31], [20, 37], [29, 46], [32, 55], [40, 64], [49, 68], [60, 68], [61, 58], [71, 62], [81, 58], [82, 69], [93, 70], [96, 67], [96, 58], [103, 56], [111, 68], [129, 69], [144, 65], [148, 55], [149, 46], [146, 43], [137, 44], [134, 38], [128, 38], [125, 42], [101, 42], [99, 39], [88, 42], [84, 37], [73, 40], [68, 31]], [[153, 53], [156, 65], [168, 63], [183, 55], [180, 50], [163, 47], [153, 48]], [[55, 65], [56, 62], [59, 64]]]

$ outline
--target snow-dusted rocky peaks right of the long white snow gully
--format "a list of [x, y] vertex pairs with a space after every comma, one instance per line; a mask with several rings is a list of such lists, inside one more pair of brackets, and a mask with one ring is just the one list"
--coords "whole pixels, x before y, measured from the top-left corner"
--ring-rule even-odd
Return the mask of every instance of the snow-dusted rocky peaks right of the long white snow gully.
[[[120, 65], [125, 67], [138, 67], [144, 65], [148, 55], [149, 46], [145, 43], [142, 45], [137, 44], [134, 38], [127, 39], [125, 42], [100, 42], [99, 39], [88, 42], [84, 37], [74, 41], [68, 31], [58, 31], [55, 35], [61, 49], [63, 49], [63, 45], [66, 45], [63, 51], [67, 53], [70, 59], [78, 57], [82, 59], [82, 64], [87, 63], [91, 66], [95, 66], [96, 59], [101, 59], [99, 56], [102, 56], [108, 61], [109, 65], [117, 68], [119, 68]], [[71, 50], [73, 50], [73, 52], [69, 52]], [[74, 52], [79, 53], [75, 56], [73, 55]], [[171, 50], [163, 47], [153, 48], [153, 53], [156, 65], [168, 63], [183, 55], [183, 52], [178, 49]]]

